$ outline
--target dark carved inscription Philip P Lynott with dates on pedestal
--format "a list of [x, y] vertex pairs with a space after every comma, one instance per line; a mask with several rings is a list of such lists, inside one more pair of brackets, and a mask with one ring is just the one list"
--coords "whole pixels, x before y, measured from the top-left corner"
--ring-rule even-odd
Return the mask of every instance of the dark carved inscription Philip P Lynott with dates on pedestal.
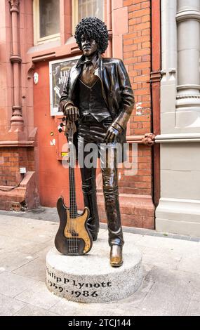
[[[98, 293], [97, 291], [86, 291], [84, 289], [100, 289], [100, 288], [106, 288], [108, 286], [112, 286], [112, 282], [97, 282], [97, 283], [85, 283], [85, 282], [76, 282], [75, 279], [67, 279], [67, 277], [61, 278], [60, 276], [56, 275], [54, 272], [51, 272], [47, 268], [48, 276], [51, 277], [51, 280], [48, 279], [48, 285], [53, 287], [55, 290], [58, 290], [60, 293], [62, 291], [66, 291], [70, 293], [72, 296], [76, 296], [78, 298], [79, 296], [92, 296], [97, 297]], [[54, 281], [53, 281], [54, 280]], [[63, 287], [62, 287], [62, 284]], [[71, 290], [66, 289], [67, 286], [70, 287]], [[80, 290], [80, 291], [74, 291], [74, 290]]]

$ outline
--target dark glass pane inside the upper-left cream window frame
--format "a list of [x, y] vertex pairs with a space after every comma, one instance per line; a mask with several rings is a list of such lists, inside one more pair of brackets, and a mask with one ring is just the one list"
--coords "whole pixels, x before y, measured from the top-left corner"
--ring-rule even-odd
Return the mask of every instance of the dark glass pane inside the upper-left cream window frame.
[[40, 38], [60, 32], [60, 0], [39, 0]]

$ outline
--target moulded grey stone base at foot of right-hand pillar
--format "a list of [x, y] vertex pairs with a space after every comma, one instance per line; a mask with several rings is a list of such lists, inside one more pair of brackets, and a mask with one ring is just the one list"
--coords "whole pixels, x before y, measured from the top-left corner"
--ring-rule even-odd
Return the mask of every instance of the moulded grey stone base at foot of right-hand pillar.
[[200, 201], [161, 198], [156, 209], [156, 230], [200, 237]]

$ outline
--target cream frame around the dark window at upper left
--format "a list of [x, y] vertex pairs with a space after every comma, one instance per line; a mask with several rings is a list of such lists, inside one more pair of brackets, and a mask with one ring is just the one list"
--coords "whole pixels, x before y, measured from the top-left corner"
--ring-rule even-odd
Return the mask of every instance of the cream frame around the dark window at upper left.
[[51, 42], [51, 41], [60, 40], [60, 32], [51, 34], [47, 37], [42, 37], [42, 38], [40, 37], [39, 0], [33, 0], [33, 16], [34, 16], [34, 46], [46, 44], [47, 42]]

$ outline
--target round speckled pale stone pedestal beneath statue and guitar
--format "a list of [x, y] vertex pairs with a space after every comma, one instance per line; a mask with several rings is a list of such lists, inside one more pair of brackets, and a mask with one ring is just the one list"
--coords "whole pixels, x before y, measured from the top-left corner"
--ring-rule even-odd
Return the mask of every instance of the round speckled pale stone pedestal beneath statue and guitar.
[[63, 256], [55, 248], [46, 255], [46, 286], [69, 301], [105, 303], [134, 293], [142, 284], [142, 256], [134, 242], [124, 244], [124, 264], [109, 265], [110, 247], [99, 238], [85, 256]]

